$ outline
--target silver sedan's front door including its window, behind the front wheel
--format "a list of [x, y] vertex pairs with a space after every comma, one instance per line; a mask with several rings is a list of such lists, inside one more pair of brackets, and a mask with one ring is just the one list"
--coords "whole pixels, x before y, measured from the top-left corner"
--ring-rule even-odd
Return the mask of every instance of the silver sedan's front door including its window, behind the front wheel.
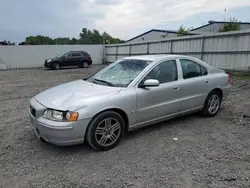
[[178, 115], [181, 108], [181, 93], [178, 85], [178, 71], [175, 60], [156, 65], [142, 80], [156, 79], [157, 87], [136, 88], [137, 124], [151, 122], [172, 115]]

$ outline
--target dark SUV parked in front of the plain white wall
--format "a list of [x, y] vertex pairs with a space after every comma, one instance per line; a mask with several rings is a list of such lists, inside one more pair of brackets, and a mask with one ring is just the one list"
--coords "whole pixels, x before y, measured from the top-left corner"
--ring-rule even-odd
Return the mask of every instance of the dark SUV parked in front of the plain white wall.
[[70, 51], [55, 58], [46, 59], [44, 66], [58, 70], [60, 67], [78, 66], [87, 68], [92, 64], [91, 56], [84, 51]]

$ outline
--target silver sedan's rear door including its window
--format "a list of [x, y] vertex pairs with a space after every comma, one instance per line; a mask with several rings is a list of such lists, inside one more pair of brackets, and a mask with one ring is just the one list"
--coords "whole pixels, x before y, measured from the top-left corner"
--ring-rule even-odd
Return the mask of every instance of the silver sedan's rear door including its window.
[[190, 59], [179, 59], [179, 63], [183, 77], [180, 81], [181, 112], [202, 107], [211, 89], [207, 69]]

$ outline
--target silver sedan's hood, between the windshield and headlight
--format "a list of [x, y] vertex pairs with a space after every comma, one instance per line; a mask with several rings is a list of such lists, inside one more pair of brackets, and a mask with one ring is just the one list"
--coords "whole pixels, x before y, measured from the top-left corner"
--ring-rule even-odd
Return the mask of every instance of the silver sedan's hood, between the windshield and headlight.
[[76, 80], [45, 90], [34, 98], [47, 108], [77, 110], [96, 100], [115, 95], [120, 90], [119, 87], [109, 87], [84, 80]]

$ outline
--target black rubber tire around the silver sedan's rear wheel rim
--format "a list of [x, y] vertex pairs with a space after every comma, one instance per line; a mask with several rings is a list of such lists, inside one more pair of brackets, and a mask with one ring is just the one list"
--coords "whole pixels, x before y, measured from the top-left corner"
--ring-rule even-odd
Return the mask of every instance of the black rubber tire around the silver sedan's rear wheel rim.
[[[211, 107], [210, 104], [211, 104], [212, 97], [215, 97], [216, 99], [218, 99], [218, 105], [216, 105], [217, 102], [214, 102], [214, 108], [215, 109], [211, 111], [210, 110], [210, 107]], [[215, 101], [217, 101], [217, 100], [215, 100]], [[208, 94], [208, 96], [206, 98], [206, 101], [204, 103], [203, 109], [201, 111], [202, 115], [204, 117], [213, 117], [213, 116], [215, 116], [220, 110], [221, 101], [222, 101], [221, 94], [218, 91], [215, 91], [215, 90], [211, 91]], [[211, 108], [211, 109], [213, 109], [213, 108]]]

